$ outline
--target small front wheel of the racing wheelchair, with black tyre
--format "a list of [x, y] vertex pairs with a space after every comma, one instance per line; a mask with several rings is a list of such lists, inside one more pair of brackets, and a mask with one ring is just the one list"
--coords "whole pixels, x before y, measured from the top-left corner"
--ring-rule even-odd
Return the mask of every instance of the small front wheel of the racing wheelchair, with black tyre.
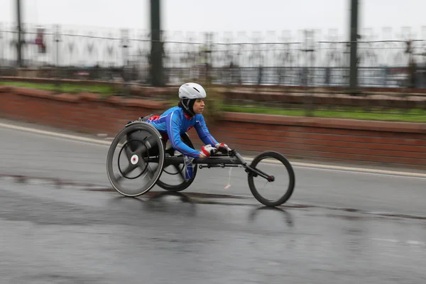
[[249, 187], [258, 202], [273, 207], [291, 197], [295, 187], [295, 173], [283, 155], [274, 151], [263, 152], [253, 159], [250, 167], [272, 177], [267, 180], [249, 172]]

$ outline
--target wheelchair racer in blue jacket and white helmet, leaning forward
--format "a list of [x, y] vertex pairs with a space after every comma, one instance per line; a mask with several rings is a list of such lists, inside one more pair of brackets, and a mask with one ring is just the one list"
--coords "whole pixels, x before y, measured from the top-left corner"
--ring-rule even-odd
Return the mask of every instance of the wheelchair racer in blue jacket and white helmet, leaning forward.
[[[227, 153], [231, 149], [225, 143], [217, 142], [209, 133], [202, 111], [204, 98], [207, 96], [204, 88], [197, 83], [182, 84], [179, 88], [180, 102], [178, 107], [172, 107], [160, 116], [151, 116], [146, 120], [162, 134], [163, 138], [170, 139], [170, 143], [177, 151], [191, 158], [207, 158], [217, 151]], [[201, 151], [187, 146], [180, 135], [195, 128], [201, 141], [205, 144]], [[214, 145], [214, 146], [213, 146]]]

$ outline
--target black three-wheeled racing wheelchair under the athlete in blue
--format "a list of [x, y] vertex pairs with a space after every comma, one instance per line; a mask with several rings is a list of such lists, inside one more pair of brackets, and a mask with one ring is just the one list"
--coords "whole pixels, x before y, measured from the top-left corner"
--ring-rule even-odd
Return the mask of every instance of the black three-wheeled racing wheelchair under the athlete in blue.
[[[187, 133], [181, 138], [187, 146], [194, 148]], [[184, 156], [165, 140], [151, 124], [143, 120], [129, 121], [109, 147], [107, 175], [112, 187], [127, 197], [143, 195], [155, 185], [178, 192], [192, 184], [197, 170], [240, 167], [246, 171], [249, 188], [258, 202], [275, 207], [293, 194], [295, 173], [280, 153], [265, 151], [256, 155], [250, 165], [235, 150], [197, 158], [192, 161], [192, 178], [187, 178]]]

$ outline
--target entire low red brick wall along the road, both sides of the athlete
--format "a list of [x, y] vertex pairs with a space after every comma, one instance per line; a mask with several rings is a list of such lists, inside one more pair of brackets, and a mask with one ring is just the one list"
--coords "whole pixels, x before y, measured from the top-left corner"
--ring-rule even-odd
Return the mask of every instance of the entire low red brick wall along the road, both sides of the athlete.
[[[2, 117], [109, 136], [129, 120], [166, 109], [151, 100], [6, 86], [0, 86], [0, 96]], [[297, 158], [426, 166], [426, 124], [225, 113], [209, 130], [249, 154], [275, 150]], [[190, 135], [199, 147], [195, 131]]]

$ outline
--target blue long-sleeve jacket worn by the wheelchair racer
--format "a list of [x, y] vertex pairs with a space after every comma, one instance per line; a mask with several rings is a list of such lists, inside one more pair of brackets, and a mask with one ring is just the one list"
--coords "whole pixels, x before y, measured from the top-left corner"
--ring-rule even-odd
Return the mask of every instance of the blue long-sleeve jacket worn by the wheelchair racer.
[[173, 148], [193, 158], [199, 158], [200, 152], [183, 143], [180, 134], [195, 127], [204, 145], [211, 144], [214, 147], [217, 144], [217, 141], [209, 133], [202, 114], [195, 114], [195, 116], [190, 117], [180, 107], [172, 107], [160, 116], [151, 117], [146, 122], [152, 124], [160, 133], [167, 133]]

